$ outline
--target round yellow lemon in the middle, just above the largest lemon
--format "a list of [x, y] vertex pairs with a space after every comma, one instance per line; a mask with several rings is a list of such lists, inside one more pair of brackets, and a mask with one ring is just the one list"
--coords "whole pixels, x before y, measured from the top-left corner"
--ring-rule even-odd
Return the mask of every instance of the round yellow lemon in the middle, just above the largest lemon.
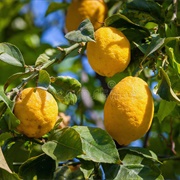
[[121, 31], [113, 27], [101, 27], [95, 31], [95, 40], [87, 44], [87, 58], [95, 72], [111, 77], [127, 68], [130, 43]]

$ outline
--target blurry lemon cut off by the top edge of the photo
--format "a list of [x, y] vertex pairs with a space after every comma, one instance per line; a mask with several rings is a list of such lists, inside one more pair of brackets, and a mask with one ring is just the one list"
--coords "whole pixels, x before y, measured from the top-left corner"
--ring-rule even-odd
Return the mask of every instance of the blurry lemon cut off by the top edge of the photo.
[[103, 0], [72, 0], [67, 9], [66, 29], [76, 30], [87, 18], [90, 19], [94, 29], [98, 29], [102, 26], [106, 14], [107, 6]]

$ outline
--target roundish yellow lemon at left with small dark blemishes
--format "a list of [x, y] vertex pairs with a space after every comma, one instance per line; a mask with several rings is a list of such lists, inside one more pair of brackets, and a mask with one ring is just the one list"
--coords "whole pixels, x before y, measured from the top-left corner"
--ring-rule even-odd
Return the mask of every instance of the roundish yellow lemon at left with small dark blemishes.
[[20, 120], [17, 130], [28, 137], [39, 138], [55, 125], [58, 106], [54, 97], [40, 88], [26, 88], [16, 98], [14, 114]]

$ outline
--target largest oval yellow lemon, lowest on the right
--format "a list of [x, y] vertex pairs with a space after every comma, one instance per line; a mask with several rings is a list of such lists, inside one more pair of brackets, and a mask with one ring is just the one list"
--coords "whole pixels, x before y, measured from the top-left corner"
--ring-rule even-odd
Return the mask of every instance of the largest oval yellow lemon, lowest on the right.
[[120, 145], [141, 138], [154, 114], [151, 91], [145, 81], [128, 76], [114, 86], [104, 106], [104, 125]]

